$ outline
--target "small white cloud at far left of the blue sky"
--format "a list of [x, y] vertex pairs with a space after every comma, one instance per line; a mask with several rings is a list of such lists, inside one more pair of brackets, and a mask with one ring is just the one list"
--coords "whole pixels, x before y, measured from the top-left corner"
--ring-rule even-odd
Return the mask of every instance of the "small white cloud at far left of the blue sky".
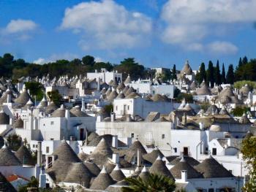
[[7, 24], [4, 31], [7, 34], [16, 34], [16, 33], [23, 33], [26, 31], [34, 31], [37, 28], [37, 24], [34, 23], [32, 20], [11, 20], [10, 23]]

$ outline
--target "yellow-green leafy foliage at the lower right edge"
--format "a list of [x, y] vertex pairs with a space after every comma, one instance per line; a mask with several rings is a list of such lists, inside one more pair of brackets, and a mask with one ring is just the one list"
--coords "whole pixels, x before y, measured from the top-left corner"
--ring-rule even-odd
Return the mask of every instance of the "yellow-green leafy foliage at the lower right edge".
[[256, 137], [250, 136], [243, 140], [241, 153], [249, 170], [249, 182], [244, 185], [243, 191], [256, 191]]

